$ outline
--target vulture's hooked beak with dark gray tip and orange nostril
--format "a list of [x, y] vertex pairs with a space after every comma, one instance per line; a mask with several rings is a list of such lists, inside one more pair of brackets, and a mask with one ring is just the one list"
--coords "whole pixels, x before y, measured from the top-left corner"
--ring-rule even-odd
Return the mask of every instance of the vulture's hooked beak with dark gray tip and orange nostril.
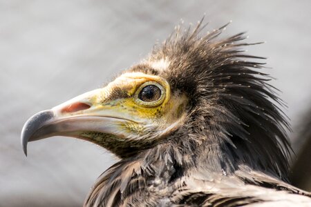
[[[126, 137], [122, 126], [132, 121], [126, 117], [128, 113], [113, 101], [102, 104], [104, 89], [86, 92], [66, 101], [55, 108], [44, 110], [26, 121], [21, 131], [21, 145], [27, 156], [28, 141], [35, 141], [53, 136], [76, 137], [96, 143], [86, 135], [87, 132], [99, 132], [115, 135], [121, 139]], [[129, 116], [129, 115], [128, 115]]]

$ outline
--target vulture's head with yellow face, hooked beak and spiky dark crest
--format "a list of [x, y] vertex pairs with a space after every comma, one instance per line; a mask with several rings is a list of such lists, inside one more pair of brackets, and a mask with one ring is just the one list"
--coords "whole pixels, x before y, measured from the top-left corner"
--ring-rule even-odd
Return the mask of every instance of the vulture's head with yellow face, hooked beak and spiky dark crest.
[[218, 39], [225, 26], [207, 34], [202, 28], [178, 27], [104, 88], [28, 119], [24, 152], [28, 141], [56, 135], [91, 141], [121, 158], [168, 144], [172, 159], [188, 153], [220, 170], [223, 163], [247, 164], [286, 177], [288, 123], [269, 78], [258, 71], [263, 63], [256, 59], [263, 58], [241, 50], [251, 45], [241, 42], [243, 33]]

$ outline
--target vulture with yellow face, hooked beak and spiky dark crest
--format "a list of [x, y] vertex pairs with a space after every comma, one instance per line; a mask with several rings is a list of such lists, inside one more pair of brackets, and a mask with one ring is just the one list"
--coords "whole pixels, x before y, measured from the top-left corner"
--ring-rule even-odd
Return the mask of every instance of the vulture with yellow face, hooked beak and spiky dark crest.
[[102, 88], [33, 115], [21, 145], [91, 141], [119, 160], [84, 206], [311, 206], [289, 181], [285, 103], [245, 32], [177, 26]]

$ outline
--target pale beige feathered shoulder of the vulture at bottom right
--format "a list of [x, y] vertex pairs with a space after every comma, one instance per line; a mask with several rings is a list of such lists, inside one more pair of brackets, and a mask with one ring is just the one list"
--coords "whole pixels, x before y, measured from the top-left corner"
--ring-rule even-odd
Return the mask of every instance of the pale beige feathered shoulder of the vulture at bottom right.
[[311, 193], [255, 170], [194, 171], [179, 182], [171, 197], [178, 206], [311, 206]]

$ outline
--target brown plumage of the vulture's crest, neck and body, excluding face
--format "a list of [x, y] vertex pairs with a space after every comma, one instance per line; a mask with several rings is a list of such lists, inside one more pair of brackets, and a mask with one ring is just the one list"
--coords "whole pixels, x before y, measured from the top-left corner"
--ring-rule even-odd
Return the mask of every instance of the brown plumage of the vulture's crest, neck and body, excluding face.
[[122, 159], [97, 179], [85, 206], [311, 205], [309, 193], [288, 184], [289, 126], [260, 72], [263, 58], [245, 54], [252, 44], [241, 42], [243, 33], [219, 39], [225, 27], [203, 28], [177, 28], [126, 70], [161, 77], [172, 96], [185, 95], [187, 106], [176, 110], [185, 121], [161, 137], [149, 130], [152, 139], [101, 143]]

